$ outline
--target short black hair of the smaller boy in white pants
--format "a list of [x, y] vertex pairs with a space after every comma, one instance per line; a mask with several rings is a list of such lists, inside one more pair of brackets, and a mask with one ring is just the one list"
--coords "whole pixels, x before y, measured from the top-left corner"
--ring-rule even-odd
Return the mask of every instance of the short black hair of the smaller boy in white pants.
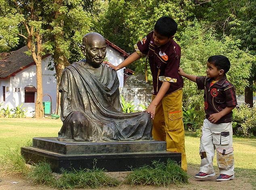
[[207, 60], [209, 63], [214, 64], [218, 70], [223, 69], [226, 74], [230, 69], [230, 61], [224, 55], [213, 55]]

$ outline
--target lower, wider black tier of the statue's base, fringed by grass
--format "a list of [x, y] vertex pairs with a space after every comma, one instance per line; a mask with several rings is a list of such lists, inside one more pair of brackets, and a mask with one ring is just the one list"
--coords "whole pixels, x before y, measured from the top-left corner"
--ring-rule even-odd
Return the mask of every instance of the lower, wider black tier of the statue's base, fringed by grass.
[[176, 152], [154, 152], [154, 153], [112, 153], [95, 155], [63, 155], [52, 153], [33, 147], [22, 147], [21, 154], [25, 157], [26, 163], [38, 163], [39, 161], [49, 162], [52, 171], [61, 173], [65, 170], [81, 170], [99, 168], [108, 172], [131, 171], [132, 168], [143, 165], [151, 165], [152, 161], [166, 162], [168, 159], [174, 160], [180, 165], [181, 153]]

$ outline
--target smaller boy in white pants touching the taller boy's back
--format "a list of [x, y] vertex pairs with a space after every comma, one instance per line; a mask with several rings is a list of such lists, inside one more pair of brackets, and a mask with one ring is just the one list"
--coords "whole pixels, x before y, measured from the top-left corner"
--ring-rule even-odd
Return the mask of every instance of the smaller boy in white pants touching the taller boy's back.
[[207, 61], [206, 75], [197, 77], [186, 74], [179, 68], [179, 74], [196, 82], [199, 90], [204, 90], [206, 119], [202, 127], [199, 153], [201, 167], [195, 178], [215, 176], [213, 158], [215, 149], [220, 176], [217, 181], [234, 179], [234, 154], [232, 139], [232, 110], [237, 105], [234, 86], [227, 80], [229, 59], [214, 55]]

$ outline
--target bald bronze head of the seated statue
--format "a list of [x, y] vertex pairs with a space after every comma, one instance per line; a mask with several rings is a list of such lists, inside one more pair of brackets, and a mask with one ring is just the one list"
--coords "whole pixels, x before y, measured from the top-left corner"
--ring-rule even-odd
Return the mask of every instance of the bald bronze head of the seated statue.
[[86, 63], [97, 68], [106, 56], [106, 40], [99, 33], [92, 32], [84, 35], [81, 51], [86, 56]]

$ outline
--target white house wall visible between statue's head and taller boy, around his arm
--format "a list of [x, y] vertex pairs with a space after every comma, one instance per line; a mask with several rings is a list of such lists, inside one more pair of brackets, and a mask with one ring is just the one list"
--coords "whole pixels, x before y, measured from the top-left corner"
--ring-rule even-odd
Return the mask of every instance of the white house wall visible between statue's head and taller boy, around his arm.
[[[112, 47], [107, 46], [107, 55], [106, 55], [109, 63], [117, 66], [122, 61], [124, 61], [124, 57], [120, 55], [119, 52], [115, 51]], [[118, 70], [118, 79], [119, 79], [119, 87], [124, 87], [124, 68]]]

